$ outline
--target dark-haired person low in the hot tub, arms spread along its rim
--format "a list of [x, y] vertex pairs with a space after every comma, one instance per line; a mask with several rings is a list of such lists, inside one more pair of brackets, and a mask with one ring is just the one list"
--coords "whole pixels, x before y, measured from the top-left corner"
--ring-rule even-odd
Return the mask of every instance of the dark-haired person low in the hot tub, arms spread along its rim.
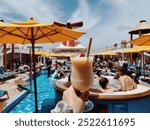
[[118, 88], [108, 86], [108, 83], [109, 83], [109, 80], [107, 78], [101, 77], [101, 79], [99, 80], [99, 84], [101, 87], [90, 88], [89, 91], [100, 92], [100, 93], [111, 93], [111, 92], [119, 91]]

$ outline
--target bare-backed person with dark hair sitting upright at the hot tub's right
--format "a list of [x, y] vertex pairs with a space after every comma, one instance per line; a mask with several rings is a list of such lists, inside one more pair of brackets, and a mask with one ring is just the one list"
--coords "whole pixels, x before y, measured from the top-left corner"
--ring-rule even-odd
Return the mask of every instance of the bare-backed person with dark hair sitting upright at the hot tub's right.
[[119, 81], [121, 85], [121, 87], [119, 88], [120, 91], [128, 91], [128, 90], [133, 90], [134, 88], [136, 88], [136, 84], [134, 83], [132, 78], [126, 75], [125, 69], [123, 69], [122, 67], [119, 67], [117, 70], [118, 70], [118, 75], [120, 76], [119, 77]]

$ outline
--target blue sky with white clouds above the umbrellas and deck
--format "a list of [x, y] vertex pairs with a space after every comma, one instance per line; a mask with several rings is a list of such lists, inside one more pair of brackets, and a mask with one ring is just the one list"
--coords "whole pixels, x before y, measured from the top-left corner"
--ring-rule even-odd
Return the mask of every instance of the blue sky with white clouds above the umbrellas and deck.
[[92, 37], [93, 49], [130, 40], [128, 32], [140, 20], [150, 22], [149, 12], [149, 0], [0, 0], [0, 19], [6, 22], [30, 17], [46, 23], [83, 21], [76, 29], [87, 34], [78, 40], [88, 46]]

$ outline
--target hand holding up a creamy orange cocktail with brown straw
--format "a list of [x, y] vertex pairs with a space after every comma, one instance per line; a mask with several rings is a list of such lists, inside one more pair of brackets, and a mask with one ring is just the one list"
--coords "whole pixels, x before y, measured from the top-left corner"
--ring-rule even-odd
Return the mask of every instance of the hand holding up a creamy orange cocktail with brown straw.
[[83, 112], [88, 99], [88, 89], [93, 77], [93, 58], [89, 57], [92, 38], [90, 38], [87, 57], [72, 57], [71, 87], [63, 95], [63, 100], [71, 105], [76, 112]]

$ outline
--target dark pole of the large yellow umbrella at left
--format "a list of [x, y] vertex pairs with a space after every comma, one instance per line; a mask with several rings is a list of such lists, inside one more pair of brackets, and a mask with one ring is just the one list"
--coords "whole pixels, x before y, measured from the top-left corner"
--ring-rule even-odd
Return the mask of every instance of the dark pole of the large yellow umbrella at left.
[[32, 62], [33, 62], [33, 80], [34, 80], [34, 98], [35, 98], [35, 113], [38, 113], [38, 100], [37, 100], [37, 84], [36, 84], [36, 64], [35, 64], [35, 40], [33, 28], [31, 28], [31, 44], [32, 44]]

